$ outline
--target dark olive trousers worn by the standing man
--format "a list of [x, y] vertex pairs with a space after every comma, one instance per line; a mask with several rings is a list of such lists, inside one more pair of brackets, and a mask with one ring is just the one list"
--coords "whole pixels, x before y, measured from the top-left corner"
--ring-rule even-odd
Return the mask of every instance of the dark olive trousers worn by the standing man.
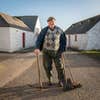
[[61, 53], [53, 50], [43, 50], [43, 66], [46, 71], [48, 79], [52, 77], [52, 63], [54, 61], [57, 73], [58, 80], [61, 82], [65, 79], [65, 70], [61, 61]]

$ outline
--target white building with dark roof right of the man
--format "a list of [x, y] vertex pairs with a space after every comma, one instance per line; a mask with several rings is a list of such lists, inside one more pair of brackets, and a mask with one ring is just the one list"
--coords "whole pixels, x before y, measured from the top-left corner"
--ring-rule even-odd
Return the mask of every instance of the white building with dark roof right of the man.
[[100, 49], [100, 15], [72, 24], [65, 33], [67, 47], [78, 50]]

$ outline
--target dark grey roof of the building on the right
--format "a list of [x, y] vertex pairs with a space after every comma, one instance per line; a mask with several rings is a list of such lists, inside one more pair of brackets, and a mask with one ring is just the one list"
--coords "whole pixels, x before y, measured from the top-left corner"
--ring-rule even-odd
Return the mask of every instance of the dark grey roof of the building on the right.
[[72, 24], [66, 31], [66, 34], [85, 34], [89, 31], [97, 22], [100, 21], [100, 15], [85, 19], [83, 21]]

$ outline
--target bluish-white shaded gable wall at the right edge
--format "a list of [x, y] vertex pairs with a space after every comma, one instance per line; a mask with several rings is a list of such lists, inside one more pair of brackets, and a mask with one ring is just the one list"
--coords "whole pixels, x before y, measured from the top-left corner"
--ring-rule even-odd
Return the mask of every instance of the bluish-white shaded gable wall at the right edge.
[[88, 32], [87, 50], [100, 49], [100, 21]]

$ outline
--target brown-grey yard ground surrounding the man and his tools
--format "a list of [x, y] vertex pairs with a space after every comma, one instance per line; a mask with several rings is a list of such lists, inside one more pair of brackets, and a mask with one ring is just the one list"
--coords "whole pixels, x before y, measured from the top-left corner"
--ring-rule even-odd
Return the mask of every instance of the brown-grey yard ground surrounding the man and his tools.
[[[43, 90], [34, 88], [34, 84], [38, 83], [38, 74], [36, 61], [33, 62], [32, 53], [13, 54], [7, 59], [4, 59], [4, 55], [2, 55], [3, 59], [0, 60], [0, 75], [6, 70], [6, 66], [12, 65], [12, 61], [13, 67], [16, 69], [15, 73], [19, 72], [18, 68], [20, 67], [22, 67], [22, 72], [18, 73], [12, 81], [9, 81], [4, 87], [0, 88], [0, 100], [99, 100], [100, 62], [77, 52], [66, 52], [65, 55], [66, 77], [70, 77], [68, 71], [70, 66], [75, 81], [82, 84], [81, 88], [67, 92], [63, 92], [62, 88], [58, 87]], [[14, 63], [16, 64], [14, 65]], [[42, 63], [40, 65], [41, 81], [47, 81]], [[27, 66], [27, 68], [24, 66]], [[11, 67], [11, 72], [14, 71], [13, 67]], [[6, 71], [9, 72], [8, 69]], [[3, 76], [0, 76], [0, 78], [2, 79]], [[58, 82], [55, 67], [53, 67], [53, 81]]]

